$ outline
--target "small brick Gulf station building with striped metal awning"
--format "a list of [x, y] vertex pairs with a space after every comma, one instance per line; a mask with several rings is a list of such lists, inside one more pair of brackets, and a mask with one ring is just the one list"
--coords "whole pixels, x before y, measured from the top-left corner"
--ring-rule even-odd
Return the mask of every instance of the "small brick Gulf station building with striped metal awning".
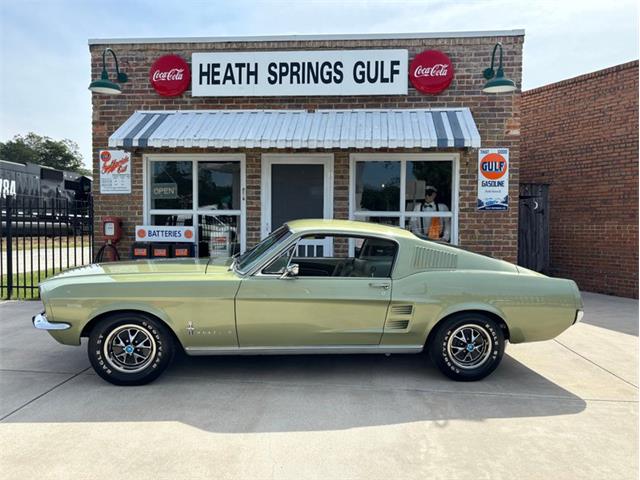
[[[505, 74], [519, 86], [523, 41], [523, 31], [90, 40], [92, 79], [107, 47], [129, 76], [122, 94], [92, 99], [96, 232], [105, 216], [121, 217], [127, 257], [136, 225], [191, 225], [206, 256], [214, 237], [244, 250], [296, 217], [422, 233], [436, 218], [442, 239], [515, 261], [520, 94], [483, 93], [482, 71], [501, 42]], [[438, 94], [423, 93], [409, 82], [409, 67], [434, 50], [450, 59], [453, 79]], [[154, 89], [150, 69], [165, 55], [191, 63], [195, 89]], [[258, 85], [253, 69], [274, 59], [277, 68], [269, 64]], [[325, 82], [313, 69], [326, 62], [333, 77]], [[360, 69], [365, 64], [371, 69]], [[331, 85], [343, 79], [352, 84]], [[478, 147], [509, 150], [507, 210], [477, 208]], [[130, 154], [130, 193], [100, 193], [104, 149]], [[435, 211], [420, 206], [427, 187], [437, 190]]]

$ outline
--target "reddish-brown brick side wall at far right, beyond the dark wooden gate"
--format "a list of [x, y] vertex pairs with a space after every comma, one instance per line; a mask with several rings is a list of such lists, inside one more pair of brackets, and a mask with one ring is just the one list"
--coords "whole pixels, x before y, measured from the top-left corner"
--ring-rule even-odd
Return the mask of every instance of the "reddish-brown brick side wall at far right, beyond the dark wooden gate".
[[554, 275], [638, 297], [638, 62], [522, 94], [523, 183], [549, 183]]

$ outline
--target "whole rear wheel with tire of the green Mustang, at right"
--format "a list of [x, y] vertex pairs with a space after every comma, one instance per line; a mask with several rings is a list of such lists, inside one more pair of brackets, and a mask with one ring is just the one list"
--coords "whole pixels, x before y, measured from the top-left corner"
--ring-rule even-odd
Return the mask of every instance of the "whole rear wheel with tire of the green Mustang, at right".
[[462, 313], [439, 326], [429, 354], [447, 377], [470, 382], [496, 369], [504, 347], [504, 334], [495, 320], [483, 314]]

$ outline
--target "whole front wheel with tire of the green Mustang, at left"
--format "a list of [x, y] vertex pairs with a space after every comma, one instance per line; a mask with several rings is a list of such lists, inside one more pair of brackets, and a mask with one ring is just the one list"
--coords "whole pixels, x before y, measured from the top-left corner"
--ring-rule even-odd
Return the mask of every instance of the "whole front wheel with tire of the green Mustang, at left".
[[158, 320], [139, 313], [102, 319], [89, 337], [89, 361], [115, 385], [144, 385], [164, 371], [174, 353], [173, 339]]

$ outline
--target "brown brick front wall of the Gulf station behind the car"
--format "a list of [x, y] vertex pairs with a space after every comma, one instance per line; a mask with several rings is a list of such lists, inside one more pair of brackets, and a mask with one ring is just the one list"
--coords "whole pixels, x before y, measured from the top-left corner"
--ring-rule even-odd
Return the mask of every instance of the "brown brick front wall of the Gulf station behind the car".
[[[124, 217], [124, 241], [121, 253], [130, 250], [136, 223], [142, 222], [142, 154], [148, 153], [245, 153], [247, 159], [247, 245], [260, 238], [260, 171], [263, 153], [306, 153], [309, 150], [214, 150], [135, 149], [133, 151], [133, 185], [131, 196], [100, 195], [98, 152], [107, 147], [111, 135], [136, 110], [195, 110], [195, 109], [330, 109], [330, 108], [471, 108], [482, 138], [483, 147], [510, 149], [511, 209], [507, 212], [477, 212], [477, 150], [460, 149], [460, 216], [459, 243], [467, 248], [494, 255], [509, 261], [517, 257], [518, 209], [514, 203], [518, 193], [518, 165], [520, 139], [520, 94], [488, 95], [481, 92], [484, 78], [481, 72], [491, 62], [491, 51], [502, 42], [505, 52], [505, 73], [521, 83], [522, 44], [524, 37], [488, 36], [442, 39], [402, 40], [326, 40], [326, 41], [263, 41], [232, 43], [172, 43], [172, 44], [101, 44], [91, 45], [91, 78], [99, 78], [102, 70], [102, 51], [113, 48], [122, 71], [129, 75], [118, 96], [93, 95], [93, 166], [96, 227], [104, 215]], [[447, 53], [455, 68], [455, 78], [448, 90], [440, 95], [424, 95], [409, 88], [406, 96], [358, 97], [191, 97], [190, 91], [177, 98], [160, 97], [148, 81], [151, 64], [161, 55], [178, 54], [187, 61], [191, 53], [213, 51], [260, 50], [324, 50], [358, 48], [406, 48], [410, 60], [423, 50], [436, 49]], [[327, 153], [326, 150], [315, 150]], [[349, 189], [349, 153], [372, 150], [336, 150], [334, 153], [334, 216], [347, 218]], [[375, 150], [379, 153], [382, 150]], [[391, 151], [391, 150], [388, 150]], [[443, 150], [423, 150], [435, 152]], [[421, 152], [421, 150], [393, 150]], [[97, 228], [96, 231], [99, 231]], [[103, 239], [96, 235], [96, 244]]]

